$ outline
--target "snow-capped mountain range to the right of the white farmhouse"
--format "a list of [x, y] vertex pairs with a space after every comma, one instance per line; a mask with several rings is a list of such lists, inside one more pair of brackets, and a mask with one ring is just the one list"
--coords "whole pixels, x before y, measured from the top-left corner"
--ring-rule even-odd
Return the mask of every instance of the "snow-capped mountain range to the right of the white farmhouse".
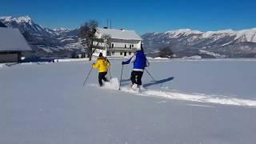
[[206, 32], [182, 29], [165, 33], [147, 33], [142, 35], [142, 38], [146, 50], [150, 53], [157, 52], [158, 48], [170, 46], [174, 53], [178, 54], [178, 57], [193, 55], [201, 55], [204, 58], [215, 58], [216, 55], [256, 56], [256, 28]]

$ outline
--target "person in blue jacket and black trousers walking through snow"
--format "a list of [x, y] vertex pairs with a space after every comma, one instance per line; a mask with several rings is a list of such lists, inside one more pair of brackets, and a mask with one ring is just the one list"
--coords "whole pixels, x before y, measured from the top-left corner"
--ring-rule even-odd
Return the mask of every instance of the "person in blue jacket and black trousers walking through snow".
[[144, 69], [145, 67], [150, 66], [150, 62], [146, 59], [143, 49], [138, 50], [128, 61], [122, 62], [122, 65], [130, 64], [130, 62], [134, 63], [134, 69], [130, 74], [130, 80], [132, 82], [131, 88], [139, 89], [142, 86], [142, 75]]

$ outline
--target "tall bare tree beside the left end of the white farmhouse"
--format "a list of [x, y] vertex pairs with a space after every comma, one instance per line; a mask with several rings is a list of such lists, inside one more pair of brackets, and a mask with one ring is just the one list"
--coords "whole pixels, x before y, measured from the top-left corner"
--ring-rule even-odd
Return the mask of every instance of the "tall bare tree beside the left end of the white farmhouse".
[[93, 50], [94, 42], [98, 41], [98, 38], [96, 36], [97, 27], [98, 22], [95, 20], [90, 20], [89, 22], [86, 22], [83, 26], [81, 26], [78, 34], [79, 38], [82, 39], [82, 46], [85, 46], [89, 52], [89, 61], [91, 61], [92, 54], [94, 54], [95, 51]]

